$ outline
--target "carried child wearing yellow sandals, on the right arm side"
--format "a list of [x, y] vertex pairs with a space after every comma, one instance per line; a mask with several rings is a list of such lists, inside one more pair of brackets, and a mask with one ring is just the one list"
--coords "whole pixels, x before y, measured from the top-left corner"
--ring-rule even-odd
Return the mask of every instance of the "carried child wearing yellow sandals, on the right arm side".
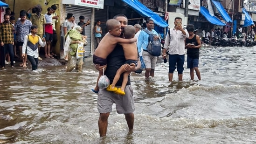
[[[128, 25], [125, 27], [124, 29], [124, 34], [125, 34], [125, 39], [131, 39], [135, 36], [135, 27]], [[134, 63], [137, 66], [137, 62], [138, 62], [138, 49], [137, 49], [137, 45], [136, 42], [133, 43], [119, 43], [120, 45], [123, 46], [124, 49], [124, 53], [125, 53], [125, 64], [131, 64]], [[126, 83], [128, 81], [128, 75], [130, 75], [131, 72], [126, 71], [125, 70], [125, 64], [122, 65], [114, 79], [112, 84], [107, 88], [108, 91], [113, 91], [114, 93], [118, 94], [118, 95], [125, 95], [125, 86]], [[124, 74], [123, 74], [124, 73]], [[117, 88], [115, 85], [117, 84], [120, 75], [123, 74], [123, 82], [120, 88]]]

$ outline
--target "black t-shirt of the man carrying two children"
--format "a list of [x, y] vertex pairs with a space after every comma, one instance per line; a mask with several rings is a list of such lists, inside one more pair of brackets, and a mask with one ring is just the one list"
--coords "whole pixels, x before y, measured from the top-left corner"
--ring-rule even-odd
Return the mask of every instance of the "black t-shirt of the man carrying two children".
[[[107, 75], [108, 78], [110, 79], [110, 83], [113, 82], [116, 72], [123, 64], [125, 64], [124, 49], [121, 45], [117, 44], [117, 46], [114, 48], [111, 54], [107, 57], [107, 69], [105, 71], [105, 75]], [[123, 74], [120, 75], [120, 78], [116, 86], [121, 86], [122, 82], [123, 82]], [[129, 75], [126, 85], [130, 85], [130, 84], [131, 84], [131, 80]]]

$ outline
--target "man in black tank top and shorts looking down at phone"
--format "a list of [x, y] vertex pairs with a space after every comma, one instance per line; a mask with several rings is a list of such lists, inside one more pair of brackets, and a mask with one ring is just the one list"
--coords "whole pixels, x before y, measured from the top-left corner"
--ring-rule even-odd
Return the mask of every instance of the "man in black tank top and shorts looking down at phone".
[[198, 77], [198, 80], [201, 80], [200, 71], [198, 69], [199, 63], [199, 48], [201, 48], [201, 40], [199, 35], [193, 33], [194, 25], [187, 25], [187, 31], [189, 37], [186, 39], [187, 48], [187, 68], [190, 69], [190, 78], [194, 80], [194, 70]]

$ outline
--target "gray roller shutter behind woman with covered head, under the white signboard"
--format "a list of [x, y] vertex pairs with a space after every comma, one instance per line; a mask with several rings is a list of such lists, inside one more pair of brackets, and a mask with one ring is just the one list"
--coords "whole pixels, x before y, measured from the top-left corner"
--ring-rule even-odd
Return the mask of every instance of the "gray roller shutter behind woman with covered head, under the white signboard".
[[[72, 13], [76, 17], [76, 24], [79, 22], [79, 16], [83, 15], [85, 17], [84, 22], [91, 20], [91, 8], [90, 7], [80, 7], [80, 6], [66, 6], [66, 15]], [[91, 24], [85, 27], [85, 34], [87, 36], [88, 45], [85, 46], [85, 56], [91, 55]]]

